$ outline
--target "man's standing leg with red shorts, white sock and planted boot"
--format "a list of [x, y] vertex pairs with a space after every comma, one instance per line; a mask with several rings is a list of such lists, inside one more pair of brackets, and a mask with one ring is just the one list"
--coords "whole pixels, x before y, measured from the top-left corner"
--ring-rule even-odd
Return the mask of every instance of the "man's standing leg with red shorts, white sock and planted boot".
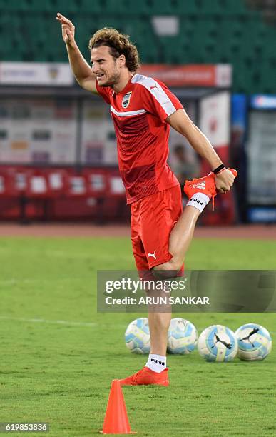
[[[178, 187], [174, 187], [171, 194], [175, 200], [176, 208], [173, 209], [173, 218], [168, 223], [168, 206], [165, 202], [165, 194], [160, 193], [156, 196], [149, 196], [140, 202], [140, 208], [133, 205], [131, 208], [131, 239], [133, 243], [133, 255], [136, 259], [136, 267], [143, 279], [154, 281], [150, 271], [149, 261], [164, 260], [170, 257], [168, 253], [168, 238], [173, 224], [180, 216], [182, 211], [181, 193]], [[144, 214], [143, 214], [144, 212]], [[143, 217], [145, 215], [145, 218]], [[137, 217], [137, 218], [136, 218]], [[142, 217], [142, 218], [141, 218]], [[139, 218], [139, 219], [138, 219]], [[168, 228], [168, 224], [170, 228]], [[143, 238], [143, 241], [141, 239]], [[169, 293], [165, 291], [154, 290], [153, 287], [147, 290], [149, 297], [166, 297]], [[145, 367], [121, 380], [122, 385], [147, 385], [156, 384], [168, 386], [168, 368], [166, 367], [166, 352], [168, 341], [168, 328], [171, 319], [170, 304], [149, 305], [148, 306], [148, 323], [150, 328], [150, 354]]]

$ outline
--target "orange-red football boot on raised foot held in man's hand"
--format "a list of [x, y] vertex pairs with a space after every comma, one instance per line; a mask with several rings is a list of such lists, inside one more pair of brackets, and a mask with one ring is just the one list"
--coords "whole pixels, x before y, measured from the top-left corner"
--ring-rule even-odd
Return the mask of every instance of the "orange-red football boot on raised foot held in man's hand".
[[[234, 169], [228, 169], [232, 171], [232, 174], [236, 177], [237, 171]], [[214, 209], [214, 198], [218, 194], [218, 190], [215, 186], [215, 174], [211, 171], [207, 176], [202, 178], [194, 178], [192, 181], [185, 181], [184, 192], [188, 199], [190, 200], [193, 194], [203, 193], [213, 199], [213, 209]]]

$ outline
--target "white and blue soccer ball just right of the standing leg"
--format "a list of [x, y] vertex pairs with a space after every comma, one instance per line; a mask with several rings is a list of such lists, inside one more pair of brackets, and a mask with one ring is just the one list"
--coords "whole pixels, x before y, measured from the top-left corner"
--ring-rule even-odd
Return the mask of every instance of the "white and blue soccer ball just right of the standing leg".
[[196, 348], [198, 331], [193, 323], [184, 318], [175, 317], [170, 321], [168, 330], [168, 352], [186, 355]]

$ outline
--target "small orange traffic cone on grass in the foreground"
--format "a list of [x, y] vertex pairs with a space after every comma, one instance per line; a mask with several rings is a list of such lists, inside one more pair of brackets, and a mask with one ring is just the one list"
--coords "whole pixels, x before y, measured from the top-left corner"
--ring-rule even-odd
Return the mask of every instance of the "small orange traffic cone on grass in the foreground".
[[106, 416], [103, 421], [103, 434], [131, 434], [131, 426], [126, 413], [125, 400], [119, 379], [111, 383]]

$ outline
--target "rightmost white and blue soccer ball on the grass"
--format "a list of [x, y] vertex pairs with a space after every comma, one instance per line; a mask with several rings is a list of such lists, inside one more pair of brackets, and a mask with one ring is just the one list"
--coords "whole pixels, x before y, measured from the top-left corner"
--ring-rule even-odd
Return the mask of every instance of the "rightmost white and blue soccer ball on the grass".
[[237, 356], [245, 361], [264, 360], [272, 348], [270, 333], [257, 323], [247, 323], [235, 331]]

